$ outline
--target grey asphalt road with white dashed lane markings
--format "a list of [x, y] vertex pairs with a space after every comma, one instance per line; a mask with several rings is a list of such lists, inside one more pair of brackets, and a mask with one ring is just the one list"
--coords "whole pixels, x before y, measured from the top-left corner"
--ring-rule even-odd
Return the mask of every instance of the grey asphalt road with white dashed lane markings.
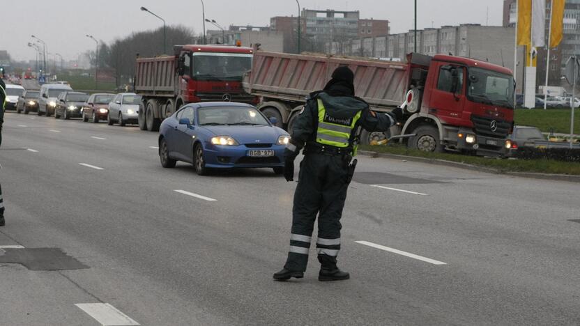
[[351, 279], [319, 282], [312, 249], [304, 279], [276, 282], [296, 183], [163, 169], [135, 126], [5, 120], [0, 246], [23, 248], [0, 253], [0, 325], [580, 324], [577, 183], [360, 157]]

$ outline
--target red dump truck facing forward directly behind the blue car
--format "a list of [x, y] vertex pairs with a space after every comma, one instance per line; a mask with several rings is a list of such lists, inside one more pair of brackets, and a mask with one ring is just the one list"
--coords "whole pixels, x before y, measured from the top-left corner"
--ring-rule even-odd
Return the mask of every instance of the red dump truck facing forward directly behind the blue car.
[[135, 93], [142, 95], [141, 130], [157, 131], [183, 104], [232, 101], [257, 104], [245, 93], [243, 74], [252, 66], [250, 47], [177, 45], [174, 56], [138, 58]]

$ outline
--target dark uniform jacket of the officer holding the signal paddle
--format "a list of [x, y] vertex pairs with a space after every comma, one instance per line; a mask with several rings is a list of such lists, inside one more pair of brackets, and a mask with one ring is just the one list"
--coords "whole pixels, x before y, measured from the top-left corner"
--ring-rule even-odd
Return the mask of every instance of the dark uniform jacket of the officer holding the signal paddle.
[[294, 122], [292, 128], [291, 143], [296, 146], [296, 150], [288, 151], [288, 155], [298, 154], [298, 150], [302, 148], [305, 143], [316, 143], [316, 130], [318, 129], [318, 102], [321, 99], [326, 113], [333, 118], [349, 119], [362, 111], [357, 127], [353, 129], [351, 134], [351, 144], [356, 137], [358, 126], [369, 132], [386, 132], [392, 125], [396, 123], [395, 116], [388, 114], [376, 114], [369, 109], [369, 104], [360, 98], [354, 96], [330, 96], [323, 91], [318, 91], [310, 94], [303, 111], [300, 112], [298, 118]]

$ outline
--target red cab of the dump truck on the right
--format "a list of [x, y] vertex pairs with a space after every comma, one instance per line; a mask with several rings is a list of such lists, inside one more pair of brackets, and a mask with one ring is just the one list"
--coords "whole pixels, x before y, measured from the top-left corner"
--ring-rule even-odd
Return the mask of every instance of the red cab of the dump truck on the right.
[[[413, 63], [413, 61], [411, 61]], [[416, 134], [411, 148], [504, 155], [513, 127], [514, 79], [508, 68], [457, 56], [437, 55], [427, 68], [420, 110], [411, 112], [402, 133]], [[412, 73], [411, 76], [418, 75]], [[409, 113], [409, 112], [408, 112]]]

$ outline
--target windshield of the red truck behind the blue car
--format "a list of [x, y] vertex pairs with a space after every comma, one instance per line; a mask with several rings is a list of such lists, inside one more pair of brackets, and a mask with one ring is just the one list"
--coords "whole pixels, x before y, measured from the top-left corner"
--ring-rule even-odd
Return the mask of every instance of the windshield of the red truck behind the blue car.
[[252, 54], [199, 53], [193, 54], [192, 77], [197, 80], [241, 80], [252, 68]]

